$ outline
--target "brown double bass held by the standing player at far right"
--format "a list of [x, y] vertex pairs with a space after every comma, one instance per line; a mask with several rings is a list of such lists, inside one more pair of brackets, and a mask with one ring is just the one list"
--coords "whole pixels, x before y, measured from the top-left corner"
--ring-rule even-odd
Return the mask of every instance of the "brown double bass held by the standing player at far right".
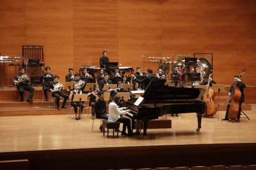
[[[241, 78], [245, 74], [245, 69], [242, 70], [242, 73], [238, 76], [238, 78]], [[231, 98], [229, 101], [229, 110], [228, 110], [228, 118], [229, 119], [236, 119], [238, 110], [239, 110], [239, 101], [241, 99], [241, 91], [240, 89], [236, 86], [237, 81], [233, 84], [234, 87], [231, 92]]]

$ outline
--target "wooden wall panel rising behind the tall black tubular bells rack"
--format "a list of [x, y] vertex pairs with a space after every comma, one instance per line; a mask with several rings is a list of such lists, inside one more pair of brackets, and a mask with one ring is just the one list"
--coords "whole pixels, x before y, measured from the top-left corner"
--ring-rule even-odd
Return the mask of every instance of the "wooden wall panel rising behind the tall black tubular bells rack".
[[64, 83], [73, 67], [72, 0], [26, 1], [26, 44], [43, 45], [45, 66]]

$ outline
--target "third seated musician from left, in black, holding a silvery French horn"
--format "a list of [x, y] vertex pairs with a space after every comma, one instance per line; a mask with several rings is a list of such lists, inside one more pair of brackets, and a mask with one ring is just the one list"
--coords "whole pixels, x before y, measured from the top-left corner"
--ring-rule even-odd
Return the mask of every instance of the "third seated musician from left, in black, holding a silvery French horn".
[[60, 97], [64, 98], [61, 108], [66, 108], [66, 102], [67, 102], [67, 99], [69, 99], [68, 95], [63, 94], [61, 92], [62, 87], [63, 87], [63, 85], [61, 83], [59, 83], [59, 76], [55, 75], [53, 83], [51, 83], [51, 85], [50, 85], [50, 89], [51, 89], [51, 92], [53, 93], [52, 96], [56, 98], [56, 104], [57, 104], [58, 110], [59, 110]]

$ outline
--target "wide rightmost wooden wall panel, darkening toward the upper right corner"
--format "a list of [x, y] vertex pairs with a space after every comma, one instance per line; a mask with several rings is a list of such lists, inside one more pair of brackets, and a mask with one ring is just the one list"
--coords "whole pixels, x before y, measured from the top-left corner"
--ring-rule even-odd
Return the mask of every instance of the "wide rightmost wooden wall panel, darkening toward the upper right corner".
[[164, 1], [163, 54], [213, 53], [217, 83], [243, 80], [254, 84], [255, 1]]

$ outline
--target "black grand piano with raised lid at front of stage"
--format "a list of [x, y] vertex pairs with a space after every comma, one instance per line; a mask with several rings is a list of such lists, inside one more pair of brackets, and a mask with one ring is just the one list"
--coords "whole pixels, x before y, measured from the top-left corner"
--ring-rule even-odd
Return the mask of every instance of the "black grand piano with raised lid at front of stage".
[[147, 124], [152, 119], [158, 119], [171, 113], [197, 113], [197, 132], [200, 131], [202, 115], [205, 113], [205, 103], [200, 101], [205, 89], [190, 87], [169, 87], [165, 81], [156, 80], [148, 84], [143, 94], [141, 105], [126, 102], [131, 110], [132, 122], [136, 120], [136, 132], [140, 133], [140, 122], [143, 122], [143, 136], [147, 136]]

